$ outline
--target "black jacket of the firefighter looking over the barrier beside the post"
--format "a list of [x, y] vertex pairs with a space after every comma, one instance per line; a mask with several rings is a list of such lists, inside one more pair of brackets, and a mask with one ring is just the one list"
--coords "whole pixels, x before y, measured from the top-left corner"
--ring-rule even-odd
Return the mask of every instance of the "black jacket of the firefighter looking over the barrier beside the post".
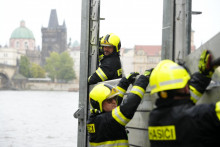
[[89, 84], [122, 78], [121, 61], [118, 53], [113, 52], [111, 55], [103, 56], [99, 63], [100, 66], [96, 72], [88, 78]]

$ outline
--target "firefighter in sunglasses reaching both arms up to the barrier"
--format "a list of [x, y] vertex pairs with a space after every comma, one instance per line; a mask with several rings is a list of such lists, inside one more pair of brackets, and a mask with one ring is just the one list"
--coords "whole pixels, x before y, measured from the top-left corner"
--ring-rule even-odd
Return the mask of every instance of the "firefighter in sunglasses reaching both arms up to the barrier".
[[116, 88], [108, 84], [96, 85], [89, 94], [91, 115], [87, 121], [91, 147], [128, 147], [125, 125], [132, 119], [140, 104], [149, 81], [147, 70], [134, 83], [127, 98], [123, 96], [137, 73], [123, 77]]

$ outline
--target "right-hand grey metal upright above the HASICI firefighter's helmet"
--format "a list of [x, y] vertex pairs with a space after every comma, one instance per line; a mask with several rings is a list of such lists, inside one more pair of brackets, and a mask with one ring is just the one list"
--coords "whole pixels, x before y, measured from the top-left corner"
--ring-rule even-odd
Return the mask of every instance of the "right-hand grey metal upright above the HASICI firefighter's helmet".
[[162, 57], [177, 61], [191, 50], [192, 0], [164, 0]]

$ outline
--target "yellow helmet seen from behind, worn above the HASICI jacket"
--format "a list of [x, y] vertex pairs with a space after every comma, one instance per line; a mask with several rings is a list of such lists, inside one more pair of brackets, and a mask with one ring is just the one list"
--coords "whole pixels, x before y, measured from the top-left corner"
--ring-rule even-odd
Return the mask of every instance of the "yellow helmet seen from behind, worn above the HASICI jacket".
[[151, 94], [160, 91], [181, 89], [186, 86], [189, 79], [190, 75], [185, 68], [171, 60], [163, 60], [151, 73]]

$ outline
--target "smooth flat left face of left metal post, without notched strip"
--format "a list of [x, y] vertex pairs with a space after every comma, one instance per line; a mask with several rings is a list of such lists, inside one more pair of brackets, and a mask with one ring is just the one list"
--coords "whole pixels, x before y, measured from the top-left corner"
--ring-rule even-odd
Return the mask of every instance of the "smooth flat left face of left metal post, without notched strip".
[[77, 146], [87, 146], [86, 120], [88, 109], [88, 63], [89, 63], [89, 26], [90, 0], [82, 0], [81, 10], [81, 44], [80, 44], [80, 82], [79, 82], [79, 109], [74, 117], [78, 118]]

